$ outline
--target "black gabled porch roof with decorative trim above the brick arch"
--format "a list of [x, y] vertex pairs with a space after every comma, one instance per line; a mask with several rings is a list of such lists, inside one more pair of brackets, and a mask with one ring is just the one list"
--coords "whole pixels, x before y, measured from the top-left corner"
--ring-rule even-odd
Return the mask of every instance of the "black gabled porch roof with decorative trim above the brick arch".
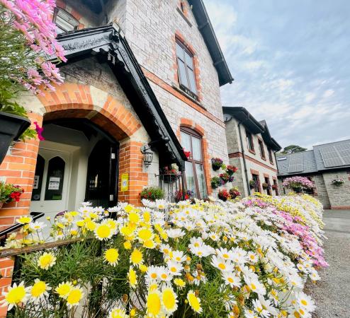
[[184, 170], [186, 155], [118, 25], [76, 30], [57, 36], [70, 61], [97, 56], [111, 67], [164, 165]]

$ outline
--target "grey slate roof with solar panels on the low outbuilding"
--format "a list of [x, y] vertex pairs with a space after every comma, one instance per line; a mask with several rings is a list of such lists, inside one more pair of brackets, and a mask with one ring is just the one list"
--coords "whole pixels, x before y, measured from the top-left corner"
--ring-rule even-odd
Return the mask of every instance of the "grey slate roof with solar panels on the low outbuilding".
[[350, 139], [313, 146], [310, 151], [277, 156], [278, 175], [303, 175], [350, 167]]

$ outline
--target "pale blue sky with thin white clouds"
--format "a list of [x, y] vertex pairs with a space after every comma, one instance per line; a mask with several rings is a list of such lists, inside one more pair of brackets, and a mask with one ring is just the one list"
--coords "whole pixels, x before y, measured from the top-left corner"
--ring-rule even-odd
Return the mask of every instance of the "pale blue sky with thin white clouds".
[[350, 139], [349, 0], [204, 0], [235, 81], [222, 104], [282, 146]]

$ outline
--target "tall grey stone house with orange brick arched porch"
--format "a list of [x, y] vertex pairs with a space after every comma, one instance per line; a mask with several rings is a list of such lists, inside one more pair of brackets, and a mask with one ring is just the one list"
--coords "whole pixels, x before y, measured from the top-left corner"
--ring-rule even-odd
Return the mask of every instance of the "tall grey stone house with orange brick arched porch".
[[1, 180], [25, 192], [1, 209], [0, 227], [86, 200], [140, 204], [172, 164], [194, 196], [212, 194], [210, 159], [228, 162], [220, 86], [233, 78], [203, 1], [57, 0], [52, 19], [64, 83], [18, 100], [45, 141], [17, 142], [1, 164]]

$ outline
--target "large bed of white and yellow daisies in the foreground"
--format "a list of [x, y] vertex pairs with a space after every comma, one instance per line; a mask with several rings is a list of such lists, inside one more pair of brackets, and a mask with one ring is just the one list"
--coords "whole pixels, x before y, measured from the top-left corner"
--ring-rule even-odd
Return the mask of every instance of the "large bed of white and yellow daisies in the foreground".
[[[311, 317], [303, 287], [327, 266], [319, 201], [142, 203], [57, 218], [52, 237], [80, 240], [21, 256], [3, 300], [13, 317]], [[37, 242], [27, 221], [21, 241]]]

